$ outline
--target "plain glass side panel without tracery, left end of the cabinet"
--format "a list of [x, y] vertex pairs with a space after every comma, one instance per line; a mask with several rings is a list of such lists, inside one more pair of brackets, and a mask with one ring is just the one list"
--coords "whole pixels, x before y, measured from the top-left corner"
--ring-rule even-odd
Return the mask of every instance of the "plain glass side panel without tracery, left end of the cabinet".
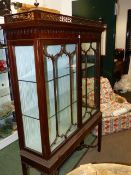
[[33, 46], [15, 47], [25, 146], [42, 152]]

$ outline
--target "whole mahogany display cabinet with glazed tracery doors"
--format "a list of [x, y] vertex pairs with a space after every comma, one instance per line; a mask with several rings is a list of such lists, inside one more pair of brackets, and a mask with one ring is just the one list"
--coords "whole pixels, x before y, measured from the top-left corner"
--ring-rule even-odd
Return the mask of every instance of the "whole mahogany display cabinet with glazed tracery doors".
[[97, 125], [100, 151], [104, 25], [33, 10], [6, 15], [2, 28], [23, 167], [29, 164], [44, 174], [55, 173]]

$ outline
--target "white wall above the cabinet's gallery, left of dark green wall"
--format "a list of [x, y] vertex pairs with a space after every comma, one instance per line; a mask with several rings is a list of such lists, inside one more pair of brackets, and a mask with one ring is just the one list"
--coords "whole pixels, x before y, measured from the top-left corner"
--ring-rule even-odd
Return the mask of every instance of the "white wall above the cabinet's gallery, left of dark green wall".
[[[12, 0], [12, 2], [16, 1], [17, 0]], [[34, 4], [35, 0], [19, 0], [19, 2], [26, 4]], [[39, 6], [59, 10], [61, 14], [72, 15], [72, 0], [38, 0], [37, 2], [39, 2]], [[14, 9], [13, 13], [15, 13]]]

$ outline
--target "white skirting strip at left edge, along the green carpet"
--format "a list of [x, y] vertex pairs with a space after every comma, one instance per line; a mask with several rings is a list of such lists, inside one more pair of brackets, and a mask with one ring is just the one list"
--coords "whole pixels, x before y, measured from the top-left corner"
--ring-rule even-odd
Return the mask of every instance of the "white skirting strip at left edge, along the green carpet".
[[18, 133], [15, 131], [12, 135], [8, 136], [7, 138], [0, 140], [0, 150], [8, 146], [9, 144], [13, 143], [18, 139]]

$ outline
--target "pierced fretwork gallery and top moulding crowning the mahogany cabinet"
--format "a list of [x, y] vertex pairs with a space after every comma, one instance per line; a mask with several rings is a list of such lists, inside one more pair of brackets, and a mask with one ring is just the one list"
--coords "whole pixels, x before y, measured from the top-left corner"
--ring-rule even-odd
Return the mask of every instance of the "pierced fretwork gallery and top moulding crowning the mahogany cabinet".
[[[1, 25], [2, 28], [24, 28], [28, 26], [63, 26], [63, 27], [75, 27], [75, 28], [95, 28], [103, 31], [104, 24], [99, 21], [91, 21], [74, 16], [61, 15], [56, 13], [45, 12], [41, 10], [32, 10], [24, 13], [17, 13], [12, 15], [6, 15], [4, 17], [5, 24]], [[28, 23], [27, 23], [28, 21]], [[19, 25], [16, 25], [19, 24]]]

